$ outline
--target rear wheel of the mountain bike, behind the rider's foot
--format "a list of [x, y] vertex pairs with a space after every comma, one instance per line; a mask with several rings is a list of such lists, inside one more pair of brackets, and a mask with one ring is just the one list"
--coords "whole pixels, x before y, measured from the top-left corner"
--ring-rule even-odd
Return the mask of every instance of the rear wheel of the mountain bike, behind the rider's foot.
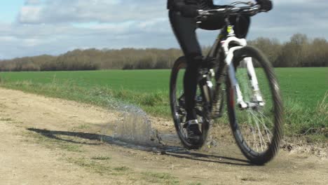
[[[198, 142], [190, 142], [186, 137], [186, 129], [184, 123], [186, 122], [186, 110], [184, 107], [184, 88], [183, 78], [184, 69], [186, 67], [185, 57], [180, 57], [174, 64], [170, 78], [170, 106], [172, 118], [175, 123], [177, 135], [186, 149], [200, 149], [203, 146], [207, 131], [209, 130], [210, 121], [206, 116], [206, 110], [203, 107], [203, 93], [200, 89], [197, 90], [196, 95], [196, 113], [198, 116], [198, 123], [201, 124], [202, 137]], [[196, 74], [195, 74], [196, 75]]]

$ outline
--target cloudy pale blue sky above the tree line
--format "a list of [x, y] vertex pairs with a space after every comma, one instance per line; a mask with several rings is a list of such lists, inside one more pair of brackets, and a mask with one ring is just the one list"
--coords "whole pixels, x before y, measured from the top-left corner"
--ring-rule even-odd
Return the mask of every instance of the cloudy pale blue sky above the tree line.
[[[327, 0], [274, 0], [252, 18], [248, 39], [328, 39]], [[230, 4], [231, 0], [215, 0]], [[0, 59], [60, 55], [76, 48], [178, 48], [166, 0], [10, 0], [0, 8]], [[217, 32], [198, 30], [209, 46]]]

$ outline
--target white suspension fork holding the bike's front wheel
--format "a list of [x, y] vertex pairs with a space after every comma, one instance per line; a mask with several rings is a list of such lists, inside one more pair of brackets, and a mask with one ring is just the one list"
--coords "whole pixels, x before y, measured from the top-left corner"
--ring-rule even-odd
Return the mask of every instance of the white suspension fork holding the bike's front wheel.
[[[229, 48], [229, 43], [238, 43], [238, 46]], [[235, 77], [235, 68], [233, 67], [232, 60], [233, 60], [233, 53], [235, 50], [238, 50], [242, 47], [247, 46], [246, 39], [238, 39], [235, 37], [235, 34], [233, 33], [233, 29], [229, 30], [229, 34], [226, 40], [221, 41], [221, 47], [224, 48], [224, 52], [226, 53], [226, 65], [228, 67], [228, 76], [230, 79], [231, 86], [233, 87], [235, 97], [236, 97], [236, 103], [239, 105], [241, 109], [246, 109], [248, 107], [253, 107], [251, 102], [245, 102], [242, 97], [242, 92], [240, 90], [240, 86], [238, 84], [237, 78]], [[260, 89], [259, 89], [259, 83], [257, 81], [257, 75], [255, 74], [254, 65], [252, 62], [251, 57], [245, 57], [245, 59], [242, 61], [247, 67], [247, 73], [250, 76], [250, 82], [252, 84], [252, 90], [254, 93], [254, 102], [256, 102], [259, 106], [264, 106], [263, 97], [261, 96]], [[253, 102], [253, 103], [254, 103]]]

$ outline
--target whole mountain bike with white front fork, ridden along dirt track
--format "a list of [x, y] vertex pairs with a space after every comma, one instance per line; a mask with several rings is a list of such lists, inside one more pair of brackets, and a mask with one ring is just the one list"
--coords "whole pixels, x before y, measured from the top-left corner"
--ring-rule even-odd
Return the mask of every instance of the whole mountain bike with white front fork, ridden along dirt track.
[[183, 77], [179, 74], [184, 74], [185, 57], [179, 57], [172, 68], [170, 106], [182, 144], [186, 149], [200, 149], [207, 139], [213, 119], [224, 119], [223, 104], [226, 102], [226, 120], [230, 122], [235, 142], [251, 163], [263, 165], [279, 150], [282, 139], [282, 100], [273, 67], [266, 56], [257, 48], [247, 46], [245, 39], [238, 39], [234, 34], [229, 16], [252, 16], [261, 12], [257, 4], [236, 6], [240, 3], [200, 11], [197, 17], [199, 22], [219, 13], [225, 16], [226, 22], [197, 74], [199, 80], [195, 109], [202, 132], [198, 142], [190, 142], [184, 128], [186, 110]]

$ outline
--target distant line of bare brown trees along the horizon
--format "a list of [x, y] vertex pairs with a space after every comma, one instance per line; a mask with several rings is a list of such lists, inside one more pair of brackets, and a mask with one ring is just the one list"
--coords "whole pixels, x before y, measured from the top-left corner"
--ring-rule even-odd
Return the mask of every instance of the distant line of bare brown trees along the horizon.
[[[308, 39], [304, 34], [294, 34], [289, 41], [258, 38], [248, 41], [250, 46], [261, 49], [274, 67], [328, 67], [328, 41]], [[204, 53], [208, 47], [203, 48]], [[63, 55], [41, 55], [0, 60], [0, 71], [72, 71], [97, 69], [169, 69], [179, 49], [135, 49], [121, 50], [94, 48], [72, 50]]]

